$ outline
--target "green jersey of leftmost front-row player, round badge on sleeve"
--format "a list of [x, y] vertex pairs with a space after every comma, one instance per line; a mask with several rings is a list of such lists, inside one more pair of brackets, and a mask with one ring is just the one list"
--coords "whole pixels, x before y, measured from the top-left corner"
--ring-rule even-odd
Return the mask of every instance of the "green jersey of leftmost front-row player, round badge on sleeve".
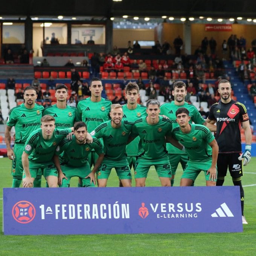
[[23, 151], [29, 154], [29, 160], [34, 163], [51, 162], [58, 144], [64, 139], [71, 129], [55, 129], [49, 140], [43, 138], [42, 129], [32, 132], [25, 143]]

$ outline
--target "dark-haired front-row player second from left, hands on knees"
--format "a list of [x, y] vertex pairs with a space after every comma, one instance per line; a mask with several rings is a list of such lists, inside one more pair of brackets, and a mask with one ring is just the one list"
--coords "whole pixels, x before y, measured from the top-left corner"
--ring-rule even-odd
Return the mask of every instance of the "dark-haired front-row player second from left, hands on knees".
[[[61, 155], [59, 161], [54, 163], [59, 173], [59, 187], [69, 187], [72, 177], [81, 178], [82, 187], [95, 187], [95, 173], [104, 158], [103, 148], [98, 139], [93, 138], [92, 143], [85, 143], [87, 126], [84, 122], [74, 125], [72, 140], [63, 139], [56, 148], [56, 155]], [[99, 155], [93, 170], [88, 163], [88, 155], [92, 150]], [[64, 154], [61, 154], [64, 151]]]

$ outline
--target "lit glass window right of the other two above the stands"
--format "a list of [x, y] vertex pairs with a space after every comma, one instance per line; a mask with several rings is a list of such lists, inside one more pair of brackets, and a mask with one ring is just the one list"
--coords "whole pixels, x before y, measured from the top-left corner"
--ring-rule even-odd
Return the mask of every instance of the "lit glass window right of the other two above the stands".
[[105, 44], [105, 26], [76, 24], [71, 27], [72, 44]]

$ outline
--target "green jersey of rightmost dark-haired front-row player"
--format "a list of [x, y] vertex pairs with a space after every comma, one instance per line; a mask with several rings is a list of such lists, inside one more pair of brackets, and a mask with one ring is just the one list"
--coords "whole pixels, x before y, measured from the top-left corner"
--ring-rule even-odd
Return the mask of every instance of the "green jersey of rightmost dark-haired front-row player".
[[209, 143], [214, 140], [214, 136], [204, 125], [193, 123], [190, 125], [189, 133], [183, 133], [178, 126], [172, 130], [172, 135], [184, 145], [190, 161], [207, 162], [212, 157], [212, 148]]

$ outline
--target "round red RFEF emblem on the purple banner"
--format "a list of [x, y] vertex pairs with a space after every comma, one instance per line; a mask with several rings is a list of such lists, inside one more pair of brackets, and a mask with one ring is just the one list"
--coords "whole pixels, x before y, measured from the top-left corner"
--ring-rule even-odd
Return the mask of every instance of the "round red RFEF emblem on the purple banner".
[[12, 207], [12, 216], [15, 221], [27, 224], [35, 218], [35, 206], [29, 201], [19, 201]]

